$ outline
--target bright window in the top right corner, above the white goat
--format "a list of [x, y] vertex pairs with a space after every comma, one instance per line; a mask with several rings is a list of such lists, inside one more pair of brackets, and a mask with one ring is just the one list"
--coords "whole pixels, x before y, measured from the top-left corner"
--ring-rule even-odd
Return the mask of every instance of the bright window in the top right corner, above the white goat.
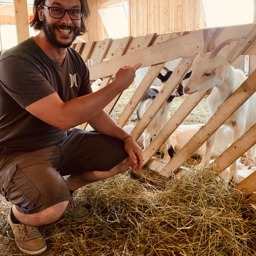
[[253, 0], [201, 0], [207, 27], [253, 23]]

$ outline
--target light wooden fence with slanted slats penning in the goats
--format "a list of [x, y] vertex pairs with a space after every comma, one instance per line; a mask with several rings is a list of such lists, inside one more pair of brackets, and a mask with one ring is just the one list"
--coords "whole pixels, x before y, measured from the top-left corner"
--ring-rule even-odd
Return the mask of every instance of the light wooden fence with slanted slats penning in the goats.
[[[215, 28], [213, 30], [203, 29], [193, 32], [172, 33], [165, 35], [149, 34], [145, 37], [105, 39], [104, 41], [73, 44], [86, 62], [94, 60], [95, 64], [89, 67], [90, 79], [104, 77], [100, 88], [105, 87], [112, 76], [125, 65], [142, 63], [142, 67], [149, 67], [148, 72], [141, 81], [139, 87], [131, 97], [129, 103], [116, 121], [121, 127], [125, 125], [131, 114], [137, 108], [138, 103], [147, 92], [157, 75], [163, 69], [167, 61], [180, 58], [179, 55], [198, 54], [204, 46], [204, 41], [211, 31], [211, 43], [208, 51], [215, 46], [230, 38], [239, 38], [239, 41], [231, 43], [224, 47], [220, 54], [225, 56], [230, 64], [239, 57], [239, 55], [256, 54], [256, 25], [233, 26], [224, 28]], [[178, 55], [179, 54], [179, 55]], [[140, 121], [137, 122], [131, 135], [137, 140], [154, 118], [156, 113], [163, 106], [169, 95], [175, 90], [177, 84], [182, 81], [191, 67], [191, 61], [182, 59], [163, 86], [161, 93], [152, 102], [148, 110], [144, 113]], [[173, 172], [182, 166], [182, 164], [201, 146], [203, 143], [256, 91], [256, 71], [233, 93], [230, 98], [218, 109], [218, 111], [209, 119], [206, 125], [192, 137], [189, 142], [177, 152], [169, 162], [159, 160], [154, 157], [167, 138], [176, 130], [183, 120], [198, 105], [201, 99], [209, 93], [209, 90], [189, 95], [180, 105], [177, 111], [172, 115], [166, 125], [152, 140], [143, 152], [144, 166], [154, 169], [160, 175], [169, 177]], [[116, 96], [105, 110], [111, 113], [113, 107], [118, 101], [120, 95]], [[87, 124], [81, 125], [85, 129]], [[256, 125], [253, 125], [242, 137], [223, 152], [210, 166], [216, 172], [222, 172], [231, 165], [236, 159], [244, 154], [256, 143]], [[246, 194], [252, 195], [256, 190], [256, 172], [248, 176], [241, 183], [239, 188]]]

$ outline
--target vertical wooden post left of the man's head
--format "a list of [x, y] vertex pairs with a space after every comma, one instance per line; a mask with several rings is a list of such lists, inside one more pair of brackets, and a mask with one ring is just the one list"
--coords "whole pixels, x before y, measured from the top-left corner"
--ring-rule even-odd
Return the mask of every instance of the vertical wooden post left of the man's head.
[[18, 43], [29, 38], [29, 16], [26, 0], [14, 0], [15, 23]]

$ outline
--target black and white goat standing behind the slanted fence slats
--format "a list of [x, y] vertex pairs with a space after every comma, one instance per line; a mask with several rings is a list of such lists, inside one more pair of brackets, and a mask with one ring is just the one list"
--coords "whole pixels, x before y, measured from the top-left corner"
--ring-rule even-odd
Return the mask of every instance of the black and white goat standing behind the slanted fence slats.
[[[168, 70], [169, 71], [169, 70]], [[167, 72], [165, 76], [163, 76], [161, 73], [157, 76], [162, 83], [164, 84], [169, 77], [171, 76], [172, 71]], [[191, 73], [190, 73], [191, 74]], [[189, 77], [189, 75], [188, 75]], [[187, 76], [184, 77], [184, 79], [188, 78]], [[183, 80], [184, 80], [183, 79]], [[145, 111], [148, 109], [149, 105], [153, 102], [154, 98], [159, 93], [161, 87], [157, 86], [151, 86], [151, 88], [148, 89], [147, 93], [144, 95], [143, 99], [138, 105], [137, 108], [137, 117], [138, 120], [140, 120], [145, 113]], [[170, 108], [172, 105], [172, 100], [175, 96], [182, 96], [183, 95], [183, 85], [180, 83], [175, 91], [172, 93], [171, 96], [167, 99], [166, 103], [163, 105], [163, 107], [160, 109], [160, 111], [156, 114], [156, 116], [152, 119], [152, 121], [149, 123], [148, 127], [144, 131], [144, 148], [146, 148], [154, 136], [156, 136], [159, 131], [163, 128], [163, 126], [166, 124], [166, 122], [171, 117], [170, 115]], [[168, 138], [166, 141], [166, 147], [164, 149], [164, 160], [169, 161], [174, 156], [174, 151], [172, 148], [172, 139], [171, 137]]]

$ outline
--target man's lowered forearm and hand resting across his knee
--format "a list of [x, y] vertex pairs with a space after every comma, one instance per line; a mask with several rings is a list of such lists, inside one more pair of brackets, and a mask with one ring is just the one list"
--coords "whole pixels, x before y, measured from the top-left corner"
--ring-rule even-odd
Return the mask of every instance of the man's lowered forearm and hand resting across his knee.
[[[89, 121], [89, 124], [95, 131], [122, 141], [125, 137], [130, 135], [117, 125], [105, 111], [101, 111], [97, 116], [93, 117], [93, 119]], [[141, 169], [143, 165], [142, 150], [132, 137], [125, 140], [125, 151], [131, 158], [131, 168], [136, 169], [138, 167]]]

